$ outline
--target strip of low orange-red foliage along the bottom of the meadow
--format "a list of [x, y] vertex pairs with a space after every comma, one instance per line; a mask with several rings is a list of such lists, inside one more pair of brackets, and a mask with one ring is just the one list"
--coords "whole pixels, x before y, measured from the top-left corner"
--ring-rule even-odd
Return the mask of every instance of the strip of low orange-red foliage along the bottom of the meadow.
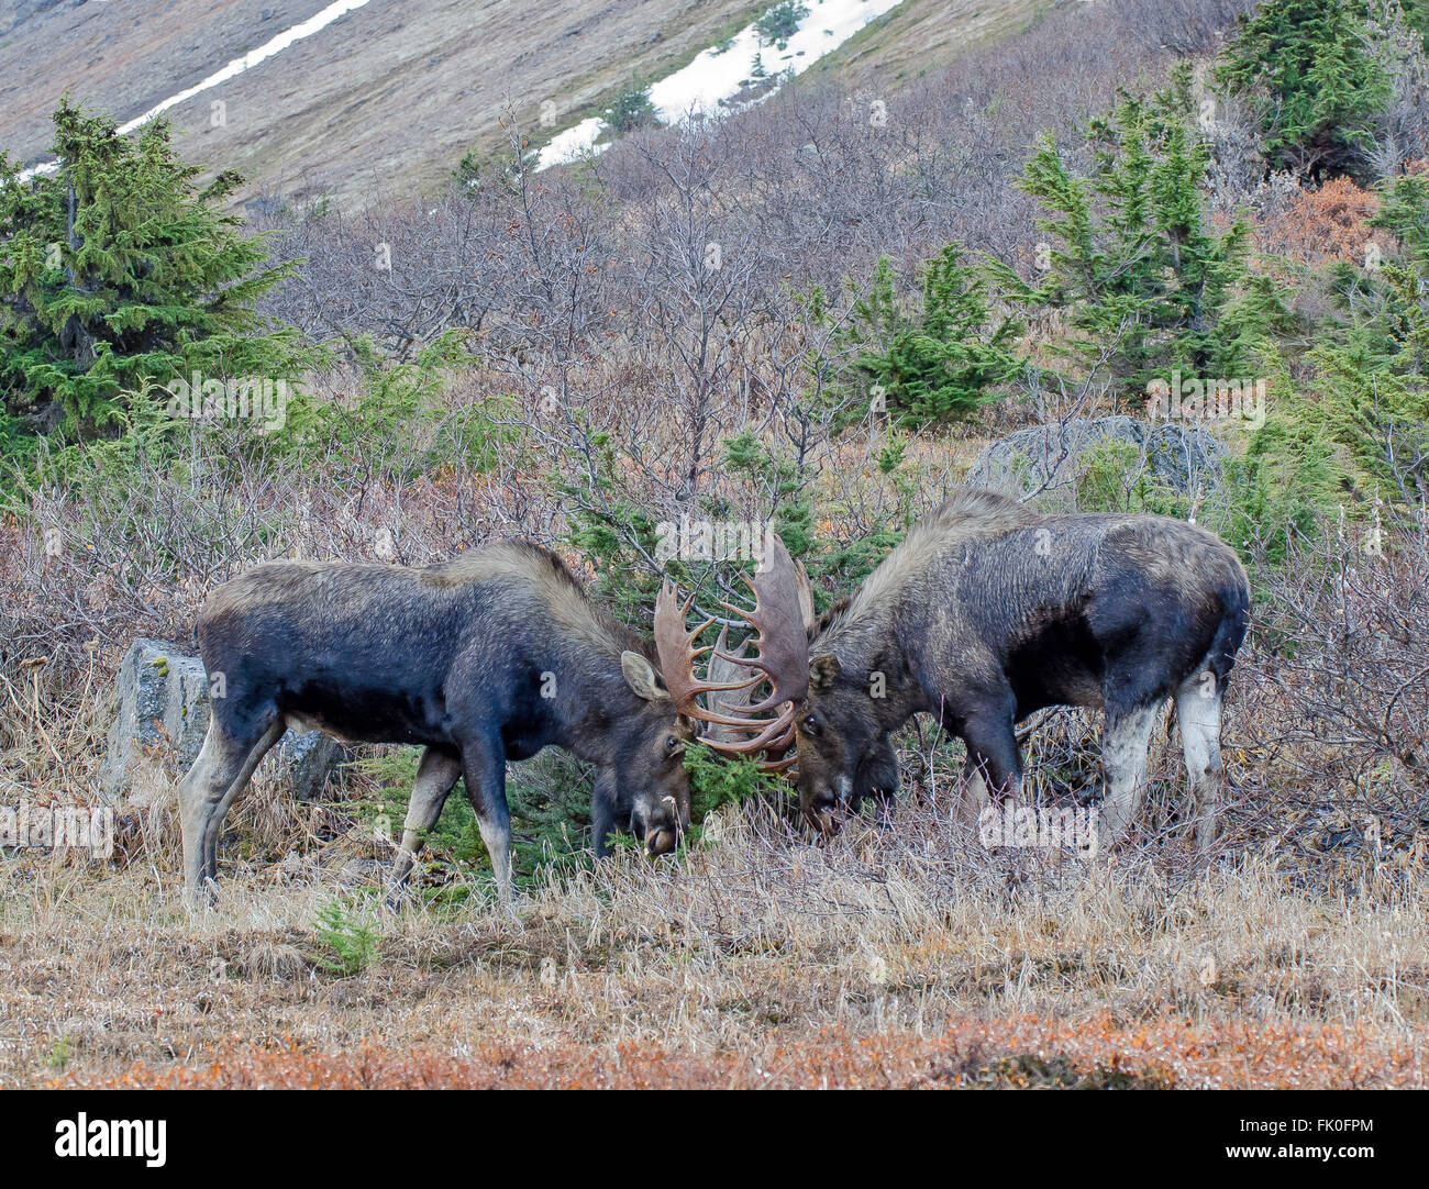
[[815, 1089], [815, 1088], [1423, 1088], [1429, 1029], [1159, 1019], [1127, 1025], [1040, 1016], [963, 1018], [942, 1036], [855, 1036], [826, 1029], [772, 1038], [746, 1053], [692, 1053], [623, 1042], [487, 1042], [460, 1056], [366, 1042], [317, 1052], [237, 1038], [197, 1063], [71, 1075], [57, 1088], [151, 1089]]

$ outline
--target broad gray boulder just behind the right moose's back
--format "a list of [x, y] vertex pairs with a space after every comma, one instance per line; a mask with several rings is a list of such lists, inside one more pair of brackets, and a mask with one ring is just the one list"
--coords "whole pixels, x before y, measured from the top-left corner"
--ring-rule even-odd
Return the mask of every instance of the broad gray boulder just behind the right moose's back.
[[1070, 507], [1076, 480], [1086, 469], [1082, 456], [1103, 442], [1135, 447], [1146, 470], [1182, 494], [1209, 492], [1220, 482], [1226, 447], [1208, 430], [1126, 416], [1069, 417], [1019, 429], [985, 446], [965, 482], [1016, 499], [1036, 492], [1039, 503]]

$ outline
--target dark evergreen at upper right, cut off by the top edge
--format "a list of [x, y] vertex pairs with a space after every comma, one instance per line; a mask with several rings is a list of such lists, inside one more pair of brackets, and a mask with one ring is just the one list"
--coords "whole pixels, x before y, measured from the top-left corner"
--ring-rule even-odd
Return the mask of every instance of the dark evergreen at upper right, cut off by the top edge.
[[1269, 0], [1236, 20], [1216, 67], [1232, 94], [1259, 94], [1272, 169], [1363, 177], [1372, 121], [1390, 80], [1369, 50], [1366, 9], [1346, 0]]

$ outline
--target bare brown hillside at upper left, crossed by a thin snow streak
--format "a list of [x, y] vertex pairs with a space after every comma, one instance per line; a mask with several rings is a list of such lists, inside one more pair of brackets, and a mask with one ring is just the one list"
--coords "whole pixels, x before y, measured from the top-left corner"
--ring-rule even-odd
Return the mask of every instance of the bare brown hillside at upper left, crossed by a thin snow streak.
[[[49, 116], [66, 91], [131, 119], [322, 7], [180, 0], [140, 16], [114, 4], [43, 10], [0, 37], [0, 144], [31, 160], [44, 154]], [[504, 141], [503, 111], [530, 129], [546, 100], [562, 123], [587, 114], [633, 73], [660, 77], [759, 10], [747, 0], [369, 4], [169, 119], [206, 176], [236, 169], [249, 179], [240, 200], [430, 190], [467, 149]], [[34, 61], [47, 69], [21, 69]], [[226, 106], [221, 127], [216, 100]]]

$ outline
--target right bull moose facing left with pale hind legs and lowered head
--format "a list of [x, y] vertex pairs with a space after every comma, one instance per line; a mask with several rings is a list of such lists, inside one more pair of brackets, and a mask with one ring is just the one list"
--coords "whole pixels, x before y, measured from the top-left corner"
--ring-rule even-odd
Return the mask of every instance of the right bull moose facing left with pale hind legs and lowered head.
[[[812, 607], [807, 593], [799, 602]], [[1099, 707], [1107, 779], [1099, 836], [1110, 843], [1136, 813], [1152, 725], [1175, 697], [1205, 849], [1223, 775], [1220, 705], [1249, 605], [1236, 554], [1195, 524], [1043, 514], [966, 489], [817, 622], [805, 615], [800, 625], [786, 593], [777, 642], [760, 647], [772, 693], [752, 707], [779, 706], [779, 716], [727, 722], [752, 736], [743, 750], [797, 746], [803, 812], [832, 830], [837, 812], [893, 796], [890, 736], [915, 713], [963, 739], [969, 783], [1000, 799], [1022, 779], [1019, 722], [1046, 706]], [[682, 683], [676, 695], [696, 717], [702, 689]]]

